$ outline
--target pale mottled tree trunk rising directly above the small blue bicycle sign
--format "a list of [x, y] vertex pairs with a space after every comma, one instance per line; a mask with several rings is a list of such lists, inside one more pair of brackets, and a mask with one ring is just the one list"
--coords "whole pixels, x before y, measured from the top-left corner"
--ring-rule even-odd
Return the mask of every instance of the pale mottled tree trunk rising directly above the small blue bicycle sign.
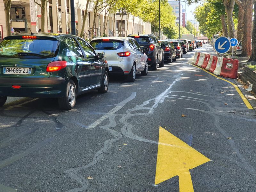
[[233, 22], [233, 10], [235, 5], [235, 0], [222, 0], [222, 1], [225, 6], [225, 11], [227, 13], [228, 36], [231, 39], [235, 36], [235, 26]]

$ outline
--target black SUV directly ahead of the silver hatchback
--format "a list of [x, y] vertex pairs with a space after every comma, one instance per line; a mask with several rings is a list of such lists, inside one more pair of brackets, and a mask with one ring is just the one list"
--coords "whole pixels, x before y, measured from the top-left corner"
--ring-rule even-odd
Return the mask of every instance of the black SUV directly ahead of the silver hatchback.
[[148, 64], [151, 65], [152, 70], [157, 69], [157, 64], [159, 67], [164, 67], [164, 50], [162, 47], [164, 44], [158, 42], [156, 36], [150, 35], [129, 35], [127, 37], [132, 37], [138, 41], [140, 46], [148, 48], [145, 52], [148, 56]]

